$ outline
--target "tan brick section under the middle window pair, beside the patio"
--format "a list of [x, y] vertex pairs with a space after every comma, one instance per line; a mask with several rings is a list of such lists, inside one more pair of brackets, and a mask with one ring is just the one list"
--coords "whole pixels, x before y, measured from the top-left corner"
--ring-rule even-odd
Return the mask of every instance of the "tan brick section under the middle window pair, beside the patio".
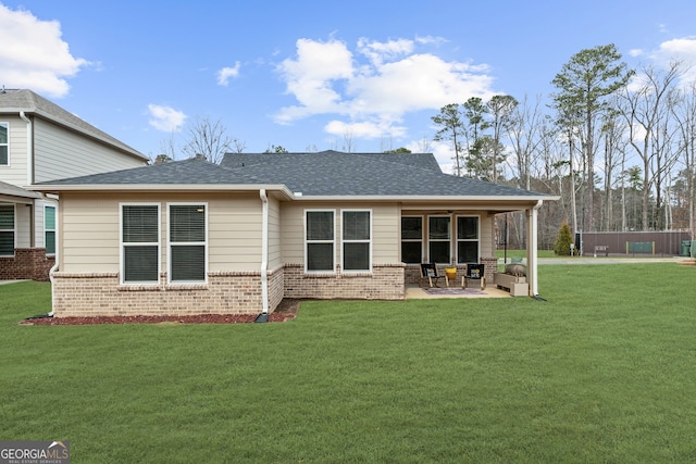
[[307, 274], [302, 264], [286, 264], [285, 297], [403, 300], [403, 264], [375, 264], [372, 273], [358, 274]]

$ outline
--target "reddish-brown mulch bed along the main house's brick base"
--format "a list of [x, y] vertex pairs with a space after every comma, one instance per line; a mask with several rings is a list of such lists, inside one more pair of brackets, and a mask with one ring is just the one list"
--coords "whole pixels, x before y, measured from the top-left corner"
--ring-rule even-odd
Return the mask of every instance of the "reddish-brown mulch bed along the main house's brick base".
[[[284, 299], [269, 314], [270, 323], [284, 323], [297, 316], [300, 300]], [[28, 317], [22, 325], [94, 325], [94, 324], [249, 324], [258, 314], [198, 314], [192, 316], [94, 316]]]

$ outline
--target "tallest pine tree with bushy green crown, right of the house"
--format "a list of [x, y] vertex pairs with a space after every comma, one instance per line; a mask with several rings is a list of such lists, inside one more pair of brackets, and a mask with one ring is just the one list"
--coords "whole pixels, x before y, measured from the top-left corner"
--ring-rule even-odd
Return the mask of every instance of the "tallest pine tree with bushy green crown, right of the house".
[[582, 149], [585, 162], [587, 228], [594, 229], [594, 159], [595, 130], [598, 115], [607, 108], [607, 97], [624, 87], [634, 72], [621, 62], [613, 43], [584, 49], [563, 64], [551, 84], [559, 91], [552, 95], [562, 114], [577, 114], [582, 122]]

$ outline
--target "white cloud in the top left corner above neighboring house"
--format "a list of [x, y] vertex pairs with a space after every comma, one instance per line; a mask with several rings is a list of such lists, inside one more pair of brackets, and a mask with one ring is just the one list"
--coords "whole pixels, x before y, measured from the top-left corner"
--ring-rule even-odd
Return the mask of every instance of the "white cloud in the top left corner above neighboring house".
[[62, 39], [57, 21], [41, 21], [29, 11], [0, 4], [0, 76], [2, 85], [28, 88], [49, 97], [64, 97], [65, 80], [88, 61], [75, 58]]

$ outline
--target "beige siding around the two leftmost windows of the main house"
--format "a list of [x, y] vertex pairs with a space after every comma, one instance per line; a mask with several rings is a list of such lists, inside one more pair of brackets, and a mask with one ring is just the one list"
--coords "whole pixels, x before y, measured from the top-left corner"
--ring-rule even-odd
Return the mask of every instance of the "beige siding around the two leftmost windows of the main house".
[[61, 271], [117, 273], [122, 203], [160, 204], [161, 268], [166, 269], [166, 205], [208, 203], [209, 271], [259, 271], [261, 266], [261, 200], [244, 193], [74, 193], [61, 196], [59, 223], [63, 238]]

